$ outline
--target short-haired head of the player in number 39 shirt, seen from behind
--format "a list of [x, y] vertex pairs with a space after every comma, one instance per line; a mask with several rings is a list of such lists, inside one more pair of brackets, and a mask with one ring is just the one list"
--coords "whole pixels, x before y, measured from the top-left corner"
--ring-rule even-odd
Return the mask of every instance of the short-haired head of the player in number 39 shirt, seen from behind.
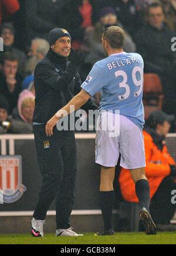
[[125, 42], [125, 32], [119, 26], [110, 26], [103, 33], [103, 39], [107, 40], [113, 49], [122, 49]]

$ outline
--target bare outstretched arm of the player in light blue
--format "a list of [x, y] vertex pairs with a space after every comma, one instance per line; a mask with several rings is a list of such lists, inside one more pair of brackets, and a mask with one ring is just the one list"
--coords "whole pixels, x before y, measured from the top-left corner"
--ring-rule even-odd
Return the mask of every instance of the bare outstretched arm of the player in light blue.
[[[62, 117], [65, 117], [69, 115], [70, 113], [76, 111], [77, 109], [80, 109], [86, 102], [90, 99], [89, 93], [87, 93], [85, 90], [81, 90], [79, 94], [77, 94], [75, 97], [73, 97], [70, 102], [64, 106], [62, 109], [60, 109], [46, 124], [46, 135], [52, 136], [53, 135], [53, 127], [56, 126], [59, 119]], [[74, 106], [72, 108], [72, 106]]]

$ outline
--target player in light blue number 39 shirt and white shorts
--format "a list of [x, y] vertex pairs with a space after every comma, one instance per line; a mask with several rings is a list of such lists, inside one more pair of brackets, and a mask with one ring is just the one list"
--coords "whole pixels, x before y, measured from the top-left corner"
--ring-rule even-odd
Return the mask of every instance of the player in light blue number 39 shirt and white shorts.
[[[91, 96], [101, 92], [99, 119], [104, 116], [119, 118], [119, 134], [109, 136], [112, 127], [100, 129], [96, 136], [96, 163], [101, 165], [100, 198], [104, 228], [98, 235], [113, 235], [112, 214], [114, 203], [113, 181], [115, 167], [121, 154], [120, 166], [131, 171], [140, 203], [140, 219], [147, 235], [157, 234], [157, 227], [150, 215], [150, 186], [145, 176], [144, 107], [143, 107], [143, 58], [137, 53], [123, 52], [125, 33], [117, 26], [104, 31], [102, 42], [108, 57], [97, 62], [82, 91], [59, 110], [46, 125], [46, 135], [52, 136], [53, 127], [63, 116], [83, 106]], [[64, 110], [64, 111], [63, 111]], [[105, 111], [104, 111], [105, 110]], [[108, 110], [115, 113], [110, 113]], [[116, 114], [120, 111], [120, 115]], [[108, 121], [109, 122], [109, 121]]]

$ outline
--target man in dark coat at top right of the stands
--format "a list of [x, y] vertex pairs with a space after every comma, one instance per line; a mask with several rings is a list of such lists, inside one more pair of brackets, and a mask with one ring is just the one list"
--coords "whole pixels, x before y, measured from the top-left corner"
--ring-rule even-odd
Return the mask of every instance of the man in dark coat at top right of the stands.
[[145, 72], [160, 75], [165, 95], [164, 110], [176, 114], [175, 52], [171, 50], [174, 33], [164, 24], [163, 7], [154, 3], [148, 6], [147, 23], [137, 32], [137, 52], [143, 56]]

